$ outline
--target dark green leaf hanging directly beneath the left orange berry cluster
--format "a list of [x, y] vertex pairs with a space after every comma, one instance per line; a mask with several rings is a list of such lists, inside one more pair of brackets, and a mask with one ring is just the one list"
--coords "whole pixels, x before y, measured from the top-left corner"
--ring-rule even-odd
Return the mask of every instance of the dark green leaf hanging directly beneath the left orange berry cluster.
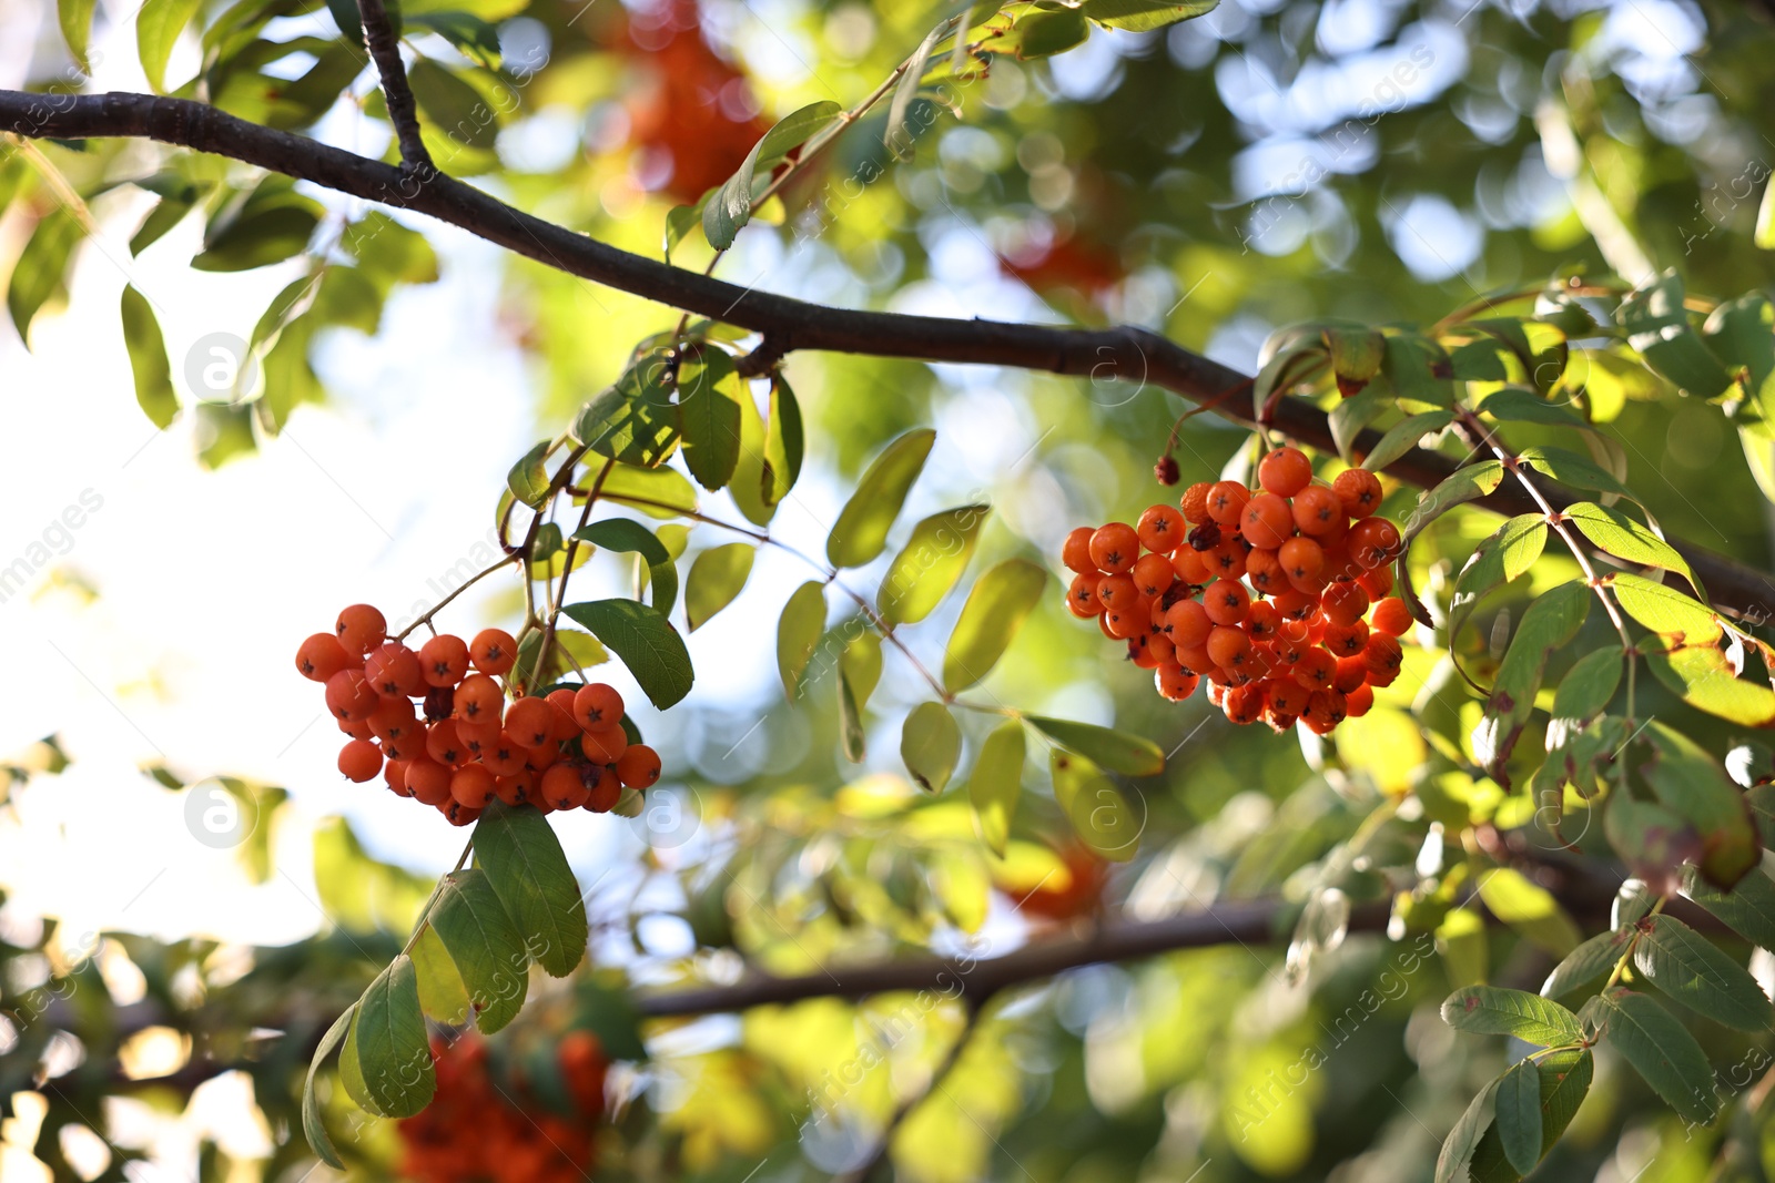
[[589, 928], [579, 880], [548, 821], [529, 805], [488, 803], [474, 823], [474, 860], [536, 963], [554, 977], [572, 974]]

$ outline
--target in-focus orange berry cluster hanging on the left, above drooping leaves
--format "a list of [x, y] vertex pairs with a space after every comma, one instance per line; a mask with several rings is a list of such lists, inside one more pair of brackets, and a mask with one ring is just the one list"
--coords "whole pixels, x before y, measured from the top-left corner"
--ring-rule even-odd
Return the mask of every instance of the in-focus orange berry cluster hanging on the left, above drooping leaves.
[[604, 683], [506, 702], [511, 633], [472, 642], [438, 633], [419, 651], [387, 635], [382, 612], [357, 603], [332, 633], [296, 649], [304, 678], [327, 686], [327, 709], [351, 740], [339, 772], [389, 787], [469, 825], [495, 796], [508, 805], [609, 812], [623, 787], [660, 779], [659, 752], [630, 743], [623, 695]]

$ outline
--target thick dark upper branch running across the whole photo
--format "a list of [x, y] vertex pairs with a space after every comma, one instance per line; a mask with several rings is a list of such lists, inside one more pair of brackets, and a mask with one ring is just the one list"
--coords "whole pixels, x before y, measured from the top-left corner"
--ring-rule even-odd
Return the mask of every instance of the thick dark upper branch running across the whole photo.
[[[1195, 403], [1211, 403], [1248, 381], [1244, 374], [1143, 328], [1083, 330], [831, 309], [738, 287], [543, 222], [447, 176], [421, 177], [316, 140], [245, 122], [190, 99], [0, 90], [0, 128], [30, 138], [154, 138], [282, 172], [364, 200], [424, 213], [568, 275], [763, 333], [769, 353], [760, 360], [776, 360], [793, 349], [827, 349], [919, 362], [1006, 365], [1088, 378], [1093, 383], [1154, 385]], [[1235, 410], [1235, 401], [1216, 404], [1214, 413], [1251, 426], [1250, 408]], [[1310, 447], [1333, 449], [1324, 411], [1303, 399], [1282, 399], [1271, 426]], [[1367, 450], [1377, 440], [1379, 433], [1363, 431], [1354, 447]], [[1388, 465], [1386, 472], [1431, 488], [1456, 468], [1457, 461], [1450, 456], [1413, 449]], [[1555, 507], [1564, 507], [1576, 498], [1550, 500]], [[1525, 493], [1505, 486], [1475, 504], [1512, 516], [1537, 509]], [[1672, 544], [1700, 575], [1718, 607], [1752, 619], [1775, 617], [1775, 578], [1692, 543], [1672, 539]]]

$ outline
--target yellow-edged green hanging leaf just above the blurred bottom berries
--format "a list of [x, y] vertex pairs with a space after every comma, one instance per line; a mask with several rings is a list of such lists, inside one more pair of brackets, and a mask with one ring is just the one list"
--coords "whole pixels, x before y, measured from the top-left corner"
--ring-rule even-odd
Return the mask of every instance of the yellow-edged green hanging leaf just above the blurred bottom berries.
[[412, 1117], [431, 1103], [431, 1045], [419, 1011], [419, 979], [405, 952], [357, 1000], [339, 1078], [351, 1100], [378, 1117]]

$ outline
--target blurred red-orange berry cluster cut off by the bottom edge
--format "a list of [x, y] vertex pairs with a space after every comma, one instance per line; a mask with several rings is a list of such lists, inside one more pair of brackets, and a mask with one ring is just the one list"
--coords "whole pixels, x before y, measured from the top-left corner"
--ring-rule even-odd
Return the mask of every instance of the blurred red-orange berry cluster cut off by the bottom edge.
[[609, 1061], [598, 1038], [561, 1038], [559, 1069], [573, 1116], [531, 1098], [524, 1078], [493, 1082], [486, 1043], [433, 1038], [437, 1093], [424, 1112], [399, 1123], [401, 1176], [421, 1183], [584, 1183], [596, 1158]]

